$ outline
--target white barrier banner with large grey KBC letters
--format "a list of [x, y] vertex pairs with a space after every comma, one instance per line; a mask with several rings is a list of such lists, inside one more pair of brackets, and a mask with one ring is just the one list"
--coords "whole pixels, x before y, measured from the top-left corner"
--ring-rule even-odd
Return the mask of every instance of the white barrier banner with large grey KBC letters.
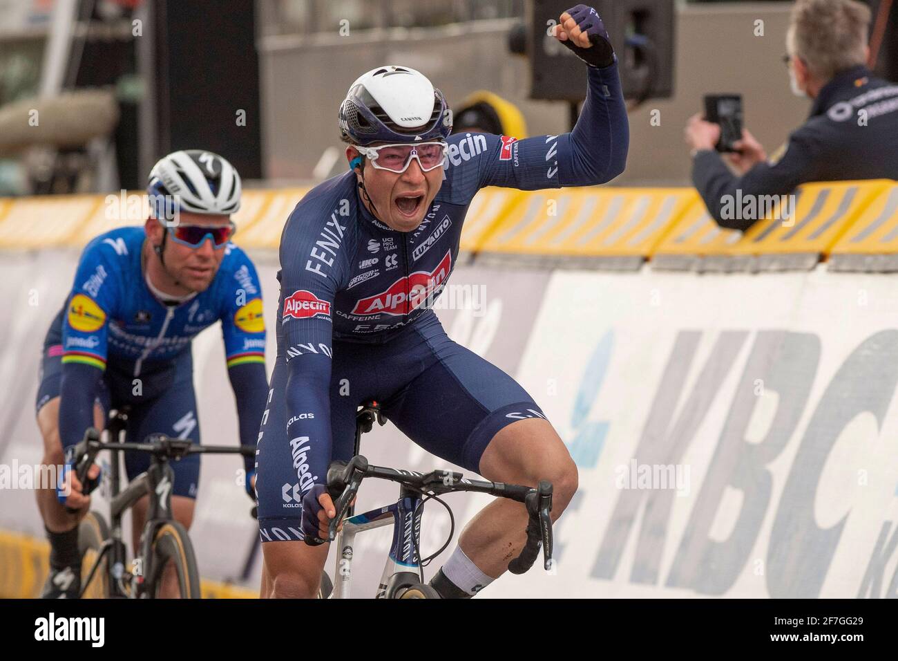
[[896, 310], [883, 275], [554, 274], [517, 377], [579, 491], [554, 571], [489, 593], [896, 596]]

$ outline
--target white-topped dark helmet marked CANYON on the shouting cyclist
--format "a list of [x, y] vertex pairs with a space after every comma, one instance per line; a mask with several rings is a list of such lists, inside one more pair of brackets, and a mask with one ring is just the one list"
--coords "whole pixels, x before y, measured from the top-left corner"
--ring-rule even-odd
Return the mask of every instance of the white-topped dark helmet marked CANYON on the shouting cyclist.
[[340, 138], [361, 147], [445, 140], [452, 132], [447, 110], [443, 93], [427, 76], [409, 67], [377, 67], [349, 86], [339, 107]]

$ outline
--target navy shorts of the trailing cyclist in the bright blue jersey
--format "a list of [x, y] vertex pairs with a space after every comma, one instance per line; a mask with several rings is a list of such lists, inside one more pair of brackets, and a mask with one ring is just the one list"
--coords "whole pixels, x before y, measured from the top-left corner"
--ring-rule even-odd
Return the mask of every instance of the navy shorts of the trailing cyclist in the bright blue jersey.
[[[128, 404], [127, 442], [143, 442], [150, 433], [164, 433], [172, 438], [189, 438], [199, 442], [197, 397], [193, 391], [193, 369], [190, 353], [165, 365], [149, 365], [141, 378], [142, 390], [134, 394], [132, 377], [119, 371], [114, 362], [101, 372], [96, 385], [96, 401], [103, 414]], [[40, 387], [35, 407], [38, 411], [51, 399], [59, 397], [62, 380], [62, 312], [50, 325], [44, 340], [40, 362]], [[128, 479], [150, 467], [146, 452], [125, 452], [125, 471]], [[195, 498], [199, 487], [199, 455], [189, 454], [172, 462], [174, 470], [173, 496]]]

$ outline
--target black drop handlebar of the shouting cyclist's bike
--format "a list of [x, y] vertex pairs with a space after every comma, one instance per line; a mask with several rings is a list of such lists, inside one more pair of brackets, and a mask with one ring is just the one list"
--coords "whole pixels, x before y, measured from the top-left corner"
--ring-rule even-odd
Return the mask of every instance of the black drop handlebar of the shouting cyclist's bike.
[[349, 504], [356, 497], [358, 487], [365, 478], [387, 479], [406, 487], [417, 489], [426, 494], [448, 494], [458, 492], [485, 493], [490, 496], [509, 498], [524, 503], [527, 514], [527, 541], [517, 558], [508, 563], [513, 574], [524, 574], [539, 555], [543, 554], [543, 568], [551, 568], [552, 559], [552, 485], [548, 480], [541, 480], [539, 487], [523, 487], [509, 485], [504, 482], [488, 482], [485, 480], [469, 480], [462, 473], [448, 470], [431, 470], [429, 473], [418, 473], [409, 470], [388, 469], [371, 466], [362, 455], [352, 460], [332, 461], [328, 469], [328, 493], [335, 498], [334, 509], [337, 515], [330, 520], [328, 540], [335, 540], [337, 528], [346, 514]]

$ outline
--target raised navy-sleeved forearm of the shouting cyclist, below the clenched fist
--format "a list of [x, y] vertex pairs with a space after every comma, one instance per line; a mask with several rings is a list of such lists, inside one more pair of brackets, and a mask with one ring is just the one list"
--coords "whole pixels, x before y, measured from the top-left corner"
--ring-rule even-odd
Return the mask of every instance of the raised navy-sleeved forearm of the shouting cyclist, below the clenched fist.
[[588, 85], [583, 109], [574, 129], [567, 136], [559, 136], [562, 186], [609, 182], [627, 165], [629, 121], [618, 66], [586, 68]]

